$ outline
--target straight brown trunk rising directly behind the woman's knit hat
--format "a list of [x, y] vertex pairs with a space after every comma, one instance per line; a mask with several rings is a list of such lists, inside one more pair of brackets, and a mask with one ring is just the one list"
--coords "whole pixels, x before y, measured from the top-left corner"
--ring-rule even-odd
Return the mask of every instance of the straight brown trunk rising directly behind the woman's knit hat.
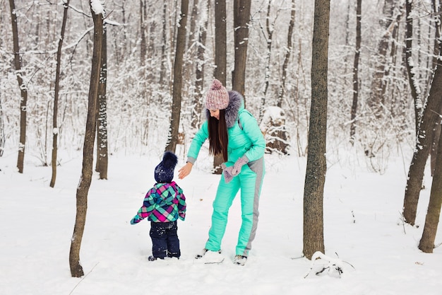
[[[227, 87], [227, 28], [226, 28], [226, 1], [215, 1], [215, 79]], [[213, 157], [213, 173], [221, 174], [221, 164], [224, 162], [221, 155]]]

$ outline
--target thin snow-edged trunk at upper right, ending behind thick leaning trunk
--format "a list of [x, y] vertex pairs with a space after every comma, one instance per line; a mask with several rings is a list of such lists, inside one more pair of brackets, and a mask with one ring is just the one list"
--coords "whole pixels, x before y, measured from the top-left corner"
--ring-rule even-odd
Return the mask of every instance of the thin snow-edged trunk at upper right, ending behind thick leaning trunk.
[[412, 97], [414, 100], [414, 127], [415, 132], [417, 134], [417, 130], [419, 129], [419, 122], [421, 122], [422, 116], [422, 99], [421, 99], [421, 90], [419, 88], [419, 81], [415, 75], [414, 63], [412, 61], [412, 42], [413, 42], [413, 18], [411, 16], [412, 13], [412, 1], [406, 1], [405, 8], [407, 11], [407, 30], [405, 33], [405, 63], [407, 65], [407, 73], [408, 73], [408, 81], [410, 83], [410, 89], [412, 92]]

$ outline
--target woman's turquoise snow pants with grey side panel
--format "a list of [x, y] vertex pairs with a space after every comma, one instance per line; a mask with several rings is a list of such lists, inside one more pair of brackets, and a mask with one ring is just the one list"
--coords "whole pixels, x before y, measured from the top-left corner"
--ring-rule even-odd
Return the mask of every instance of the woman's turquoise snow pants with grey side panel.
[[205, 248], [211, 251], [221, 249], [221, 241], [227, 226], [229, 208], [241, 190], [241, 229], [239, 229], [237, 255], [249, 255], [251, 242], [255, 238], [258, 226], [258, 204], [261, 186], [265, 174], [264, 158], [244, 165], [241, 172], [230, 183], [225, 183], [224, 175], [220, 179], [217, 194], [213, 201], [212, 226]]

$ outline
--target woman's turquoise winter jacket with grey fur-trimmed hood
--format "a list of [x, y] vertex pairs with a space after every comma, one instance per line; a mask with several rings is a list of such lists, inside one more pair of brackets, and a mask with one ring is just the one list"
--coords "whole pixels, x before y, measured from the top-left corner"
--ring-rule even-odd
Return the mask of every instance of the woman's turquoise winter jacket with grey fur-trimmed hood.
[[[255, 117], [244, 109], [244, 98], [237, 91], [229, 91], [229, 105], [226, 108], [226, 124], [229, 144], [227, 146], [227, 166], [232, 166], [238, 158], [246, 156], [249, 162], [264, 156], [265, 139]], [[210, 112], [206, 110], [206, 116]], [[204, 141], [208, 139], [208, 121], [206, 120], [192, 140], [187, 161], [195, 163]]]

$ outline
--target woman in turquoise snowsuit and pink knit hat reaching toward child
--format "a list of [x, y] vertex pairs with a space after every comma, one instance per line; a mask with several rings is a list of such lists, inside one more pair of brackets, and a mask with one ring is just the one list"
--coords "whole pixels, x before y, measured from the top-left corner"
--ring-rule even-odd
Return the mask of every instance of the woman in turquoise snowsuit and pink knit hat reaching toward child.
[[222, 155], [222, 177], [213, 202], [212, 226], [202, 258], [208, 251], [221, 253], [221, 241], [227, 226], [227, 214], [237, 192], [241, 190], [241, 229], [234, 263], [244, 265], [255, 238], [258, 224], [258, 202], [263, 183], [265, 140], [256, 119], [244, 109], [244, 99], [236, 91], [227, 91], [215, 79], [205, 95], [207, 120], [195, 134], [187, 163], [179, 169], [185, 178], [206, 139], [209, 152]]

